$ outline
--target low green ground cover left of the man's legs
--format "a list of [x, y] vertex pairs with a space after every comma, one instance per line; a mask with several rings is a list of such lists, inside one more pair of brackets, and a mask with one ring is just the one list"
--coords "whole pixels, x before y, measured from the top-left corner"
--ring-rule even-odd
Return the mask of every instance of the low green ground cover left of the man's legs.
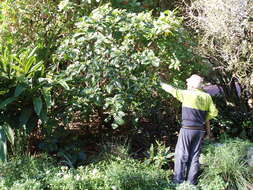
[[78, 169], [56, 166], [49, 158], [18, 157], [1, 165], [1, 189], [170, 189], [171, 171], [133, 159], [109, 160]]

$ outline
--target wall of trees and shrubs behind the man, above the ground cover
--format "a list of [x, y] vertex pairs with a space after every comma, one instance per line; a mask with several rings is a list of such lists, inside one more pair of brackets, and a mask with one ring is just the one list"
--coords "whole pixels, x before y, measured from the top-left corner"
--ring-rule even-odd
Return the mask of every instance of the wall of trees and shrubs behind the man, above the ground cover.
[[220, 90], [214, 137], [252, 140], [252, 3], [1, 1], [1, 159], [78, 165], [108, 142], [139, 159], [157, 141], [173, 149], [180, 103], [159, 81], [184, 88], [193, 73]]

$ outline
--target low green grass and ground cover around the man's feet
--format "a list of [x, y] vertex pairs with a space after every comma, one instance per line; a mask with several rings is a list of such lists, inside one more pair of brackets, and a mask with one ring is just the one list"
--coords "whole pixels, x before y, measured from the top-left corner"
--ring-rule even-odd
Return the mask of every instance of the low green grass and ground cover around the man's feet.
[[205, 145], [198, 186], [187, 183], [176, 186], [171, 182], [172, 170], [162, 169], [168, 158], [163, 155], [166, 149], [159, 145], [157, 151], [149, 152], [155, 155], [145, 161], [132, 159], [121, 147], [120, 155], [107, 152], [100, 161], [78, 168], [59, 165], [46, 155], [15, 157], [0, 164], [0, 189], [250, 190], [253, 172], [244, 159], [249, 146], [253, 146], [252, 143], [231, 139], [221, 144]]

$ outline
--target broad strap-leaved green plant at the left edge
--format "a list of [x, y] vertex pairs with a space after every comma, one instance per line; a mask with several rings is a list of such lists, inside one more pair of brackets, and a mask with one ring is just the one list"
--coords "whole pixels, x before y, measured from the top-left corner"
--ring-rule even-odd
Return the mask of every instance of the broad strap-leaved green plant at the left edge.
[[0, 124], [8, 125], [9, 131], [15, 131], [15, 147], [23, 151], [29, 132], [38, 125], [38, 121], [43, 124], [48, 120], [52, 87], [64, 86], [64, 80], [46, 74], [43, 62], [36, 59], [36, 48], [18, 54], [2, 48], [0, 84]]

